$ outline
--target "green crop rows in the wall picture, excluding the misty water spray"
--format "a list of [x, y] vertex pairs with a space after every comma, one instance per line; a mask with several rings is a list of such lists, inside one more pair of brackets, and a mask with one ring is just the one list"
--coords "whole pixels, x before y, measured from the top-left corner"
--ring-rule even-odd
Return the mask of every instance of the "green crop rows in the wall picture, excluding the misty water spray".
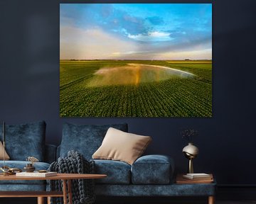
[[[92, 66], [93, 63], [89, 63], [90, 70], [86, 69], [87, 72], [86, 63], [77, 67], [70, 67], [68, 63], [60, 65], [61, 117], [212, 116], [211, 69], [208, 64], [191, 67], [192, 71], [201, 73], [198, 74], [199, 80], [169, 79], [139, 85], [89, 87], [87, 84], [93, 72], [102, 67], [102, 64]], [[188, 69], [186, 64], [181, 66], [181, 69]], [[73, 74], [68, 74], [71, 69]]]

